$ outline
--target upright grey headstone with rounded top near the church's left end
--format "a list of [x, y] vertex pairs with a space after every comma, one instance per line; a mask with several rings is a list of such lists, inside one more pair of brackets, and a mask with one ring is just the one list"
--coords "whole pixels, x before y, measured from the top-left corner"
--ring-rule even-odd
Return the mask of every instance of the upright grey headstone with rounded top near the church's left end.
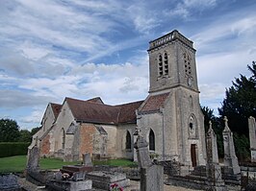
[[35, 145], [28, 153], [27, 171], [38, 172], [39, 171], [39, 159], [40, 151], [37, 145]]

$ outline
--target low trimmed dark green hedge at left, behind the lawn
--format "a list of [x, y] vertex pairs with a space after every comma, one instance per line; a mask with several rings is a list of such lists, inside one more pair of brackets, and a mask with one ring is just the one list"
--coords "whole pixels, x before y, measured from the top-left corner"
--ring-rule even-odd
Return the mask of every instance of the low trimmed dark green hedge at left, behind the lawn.
[[27, 155], [28, 142], [0, 142], [0, 157]]

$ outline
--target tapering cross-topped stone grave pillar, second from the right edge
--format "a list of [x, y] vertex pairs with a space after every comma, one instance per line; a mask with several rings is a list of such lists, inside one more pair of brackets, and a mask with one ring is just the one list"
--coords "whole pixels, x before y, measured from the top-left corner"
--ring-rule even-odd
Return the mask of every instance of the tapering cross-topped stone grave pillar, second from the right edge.
[[224, 144], [224, 165], [227, 174], [238, 175], [241, 173], [238, 157], [235, 153], [233, 132], [228, 127], [228, 120], [224, 117], [225, 128], [222, 132]]

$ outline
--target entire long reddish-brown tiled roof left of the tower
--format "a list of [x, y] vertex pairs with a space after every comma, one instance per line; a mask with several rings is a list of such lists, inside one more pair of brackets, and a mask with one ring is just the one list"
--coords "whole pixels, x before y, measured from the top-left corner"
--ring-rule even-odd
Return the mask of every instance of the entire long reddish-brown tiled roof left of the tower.
[[[99, 98], [100, 99], [100, 98]], [[95, 99], [91, 99], [94, 100]], [[136, 109], [141, 107], [143, 101], [110, 106], [91, 100], [83, 101], [65, 98], [76, 121], [95, 124], [136, 123]], [[100, 99], [101, 100], [101, 99]]]

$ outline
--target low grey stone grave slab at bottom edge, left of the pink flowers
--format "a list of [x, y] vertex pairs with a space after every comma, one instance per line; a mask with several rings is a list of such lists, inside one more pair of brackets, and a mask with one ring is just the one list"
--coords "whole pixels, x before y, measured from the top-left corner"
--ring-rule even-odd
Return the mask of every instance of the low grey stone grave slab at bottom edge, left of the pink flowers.
[[84, 181], [52, 179], [46, 183], [46, 188], [56, 191], [85, 191], [92, 188], [92, 181], [90, 179]]

